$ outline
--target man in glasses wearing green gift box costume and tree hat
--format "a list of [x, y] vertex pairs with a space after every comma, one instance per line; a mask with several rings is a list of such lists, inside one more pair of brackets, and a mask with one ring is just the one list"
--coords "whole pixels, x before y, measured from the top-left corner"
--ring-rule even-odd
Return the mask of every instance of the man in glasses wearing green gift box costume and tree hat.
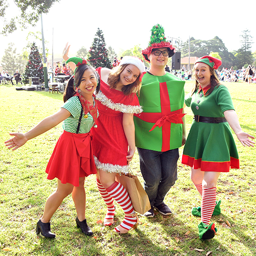
[[166, 41], [164, 28], [159, 24], [151, 32], [149, 45], [142, 51], [150, 62], [138, 97], [143, 112], [134, 117], [140, 170], [151, 204], [146, 217], [154, 217], [154, 208], [163, 215], [172, 213], [164, 198], [177, 180], [178, 148], [184, 145], [186, 137], [183, 128], [185, 82], [165, 72], [168, 58], [174, 55], [175, 49]]

